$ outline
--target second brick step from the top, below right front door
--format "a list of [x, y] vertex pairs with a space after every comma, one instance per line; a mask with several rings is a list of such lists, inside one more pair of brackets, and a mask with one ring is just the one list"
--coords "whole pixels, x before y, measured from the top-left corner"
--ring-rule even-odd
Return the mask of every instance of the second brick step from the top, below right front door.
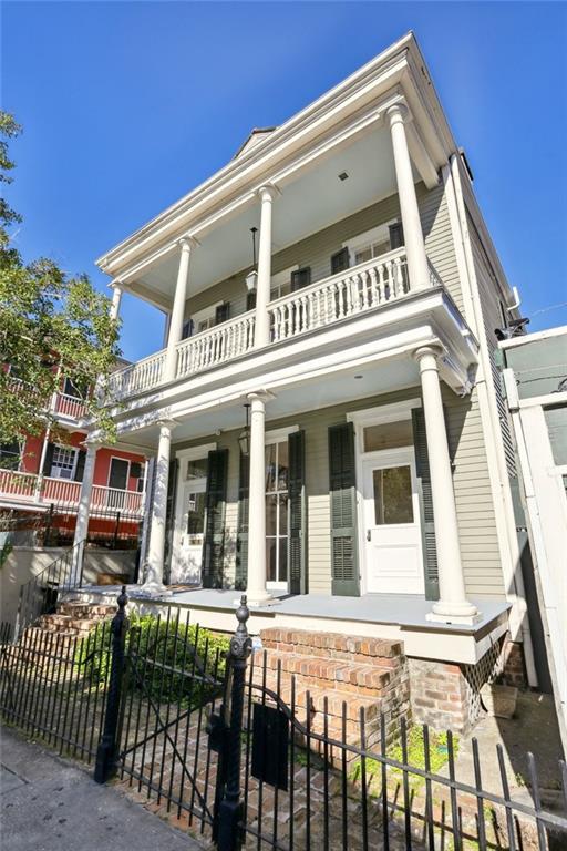
[[280, 650], [267, 650], [258, 659], [260, 668], [266, 660], [268, 670], [295, 674], [296, 677], [308, 677], [311, 680], [323, 681], [326, 687], [351, 691], [347, 686], [361, 687], [367, 693], [382, 691], [390, 685], [391, 668], [382, 669], [378, 665], [362, 664], [351, 659], [326, 659], [306, 654], [288, 654]]

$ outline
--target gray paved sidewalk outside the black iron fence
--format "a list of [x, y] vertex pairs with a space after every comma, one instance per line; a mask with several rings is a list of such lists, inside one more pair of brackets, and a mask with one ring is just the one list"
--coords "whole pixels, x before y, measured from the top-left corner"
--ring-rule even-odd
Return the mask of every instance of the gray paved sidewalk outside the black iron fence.
[[99, 786], [92, 768], [0, 728], [2, 851], [199, 851], [195, 840]]

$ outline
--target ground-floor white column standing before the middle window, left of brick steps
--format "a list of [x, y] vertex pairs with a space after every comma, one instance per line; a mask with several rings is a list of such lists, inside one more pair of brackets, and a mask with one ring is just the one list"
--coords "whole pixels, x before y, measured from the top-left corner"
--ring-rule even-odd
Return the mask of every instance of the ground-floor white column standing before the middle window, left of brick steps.
[[248, 605], [271, 599], [266, 589], [266, 393], [250, 393], [250, 476], [248, 492]]

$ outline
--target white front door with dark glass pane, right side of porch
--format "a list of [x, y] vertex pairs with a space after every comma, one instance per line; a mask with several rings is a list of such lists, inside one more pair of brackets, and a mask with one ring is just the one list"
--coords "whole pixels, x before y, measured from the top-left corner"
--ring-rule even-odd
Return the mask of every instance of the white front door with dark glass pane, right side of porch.
[[367, 591], [423, 594], [420, 499], [413, 447], [372, 452], [362, 461]]

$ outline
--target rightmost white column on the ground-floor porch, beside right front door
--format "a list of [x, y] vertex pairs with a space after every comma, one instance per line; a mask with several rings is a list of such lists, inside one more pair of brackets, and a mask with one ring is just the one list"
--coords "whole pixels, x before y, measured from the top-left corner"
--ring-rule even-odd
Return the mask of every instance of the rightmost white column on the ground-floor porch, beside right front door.
[[467, 601], [465, 594], [437, 356], [439, 350], [430, 346], [424, 346], [415, 352], [415, 359], [420, 365], [423, 412], [427, 434], [440, 585], [440, 599], [433, 604], [427, 619], [441, 623], [471, 624], [475, 621], [477, 609]]

